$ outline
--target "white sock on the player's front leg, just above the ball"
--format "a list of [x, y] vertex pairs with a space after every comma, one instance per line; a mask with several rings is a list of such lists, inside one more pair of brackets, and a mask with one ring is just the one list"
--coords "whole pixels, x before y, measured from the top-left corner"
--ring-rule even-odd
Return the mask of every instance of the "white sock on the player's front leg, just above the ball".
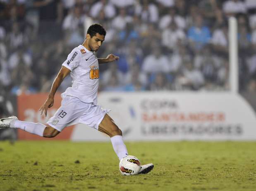
[[121, 159], [124, 158], [124, 156], [128, 155], [127, 148], [123, 141], [123, 137], [121, 135], [115, 135], [111, 137], [110, 140], [112, 142], [112, 146], [115, 153], [121, 161]]

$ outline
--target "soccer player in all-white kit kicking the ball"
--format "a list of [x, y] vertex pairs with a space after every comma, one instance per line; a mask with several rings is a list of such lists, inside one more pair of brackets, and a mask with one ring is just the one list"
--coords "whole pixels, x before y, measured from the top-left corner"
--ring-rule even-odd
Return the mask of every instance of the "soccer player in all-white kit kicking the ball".
[[[62, 68], [54, 79], [48, 98], [39, 111], [47, 116], [47, 109], [53, 106], [54, 95], [63, 79], [71, 75], [72, 87], [62, 93], [60, 108], [47, 121], [32, 123], [19, 121], [16, 116], [0, 119], [0, 128], [20, 128], [26, 132], [41, 137], [55, 137], [66, 126], [84, 123], [110, 136], [113, 149], [121, 160], [128, 155], [127, 148], [122, 139], [122, 131], [107, 114], [109, 110], [97, 105], [99, 84], [99, 65], [118, 60], [118, 56], [109, 54], [107, 58], [97, 58], [98, 51], [105, 39], [106, 31], [100, 24], [89, 27], [86, 40], [82, 45], [75, 47], [62, 63]], [[153, 164], [141, 165], [139, 173], [146, 174], [153, 169]]]

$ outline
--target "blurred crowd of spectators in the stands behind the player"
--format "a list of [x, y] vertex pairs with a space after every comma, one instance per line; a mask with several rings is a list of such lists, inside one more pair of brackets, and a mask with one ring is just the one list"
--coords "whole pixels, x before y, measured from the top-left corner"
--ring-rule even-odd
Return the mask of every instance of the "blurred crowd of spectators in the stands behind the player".
[[100, 65], [100, 91], [228, 91], [230, 16], [239, 89], [256, 91], [256, 0], [0, 0], [0, 89], [48, 92], [86, 28], [100, 23], [97, 57], [120, 56]]

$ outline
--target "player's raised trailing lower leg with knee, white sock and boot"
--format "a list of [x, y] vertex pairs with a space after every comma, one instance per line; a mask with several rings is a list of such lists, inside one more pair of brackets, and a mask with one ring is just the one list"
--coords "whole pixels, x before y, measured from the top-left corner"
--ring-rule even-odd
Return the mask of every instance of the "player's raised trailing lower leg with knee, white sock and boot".
[[16, 116], [0, 119], [0, 128], [20, 128], [26, 132], [48, 138], [55, 137], [60, 133], [60, 131], [49, 125], [45, 126], [42, 123], [19, 121]]

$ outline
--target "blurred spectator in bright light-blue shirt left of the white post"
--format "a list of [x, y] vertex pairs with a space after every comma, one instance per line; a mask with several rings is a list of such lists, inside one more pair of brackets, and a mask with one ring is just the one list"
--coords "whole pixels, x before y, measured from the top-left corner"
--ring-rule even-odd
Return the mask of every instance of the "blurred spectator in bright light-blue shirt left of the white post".
[[202, 49], [211, 40], [211, 32], [207, 26], [203, 26], [201, 15], [196, 16], [195, 26], [188, 30], [188, 38], [192, 49]]

